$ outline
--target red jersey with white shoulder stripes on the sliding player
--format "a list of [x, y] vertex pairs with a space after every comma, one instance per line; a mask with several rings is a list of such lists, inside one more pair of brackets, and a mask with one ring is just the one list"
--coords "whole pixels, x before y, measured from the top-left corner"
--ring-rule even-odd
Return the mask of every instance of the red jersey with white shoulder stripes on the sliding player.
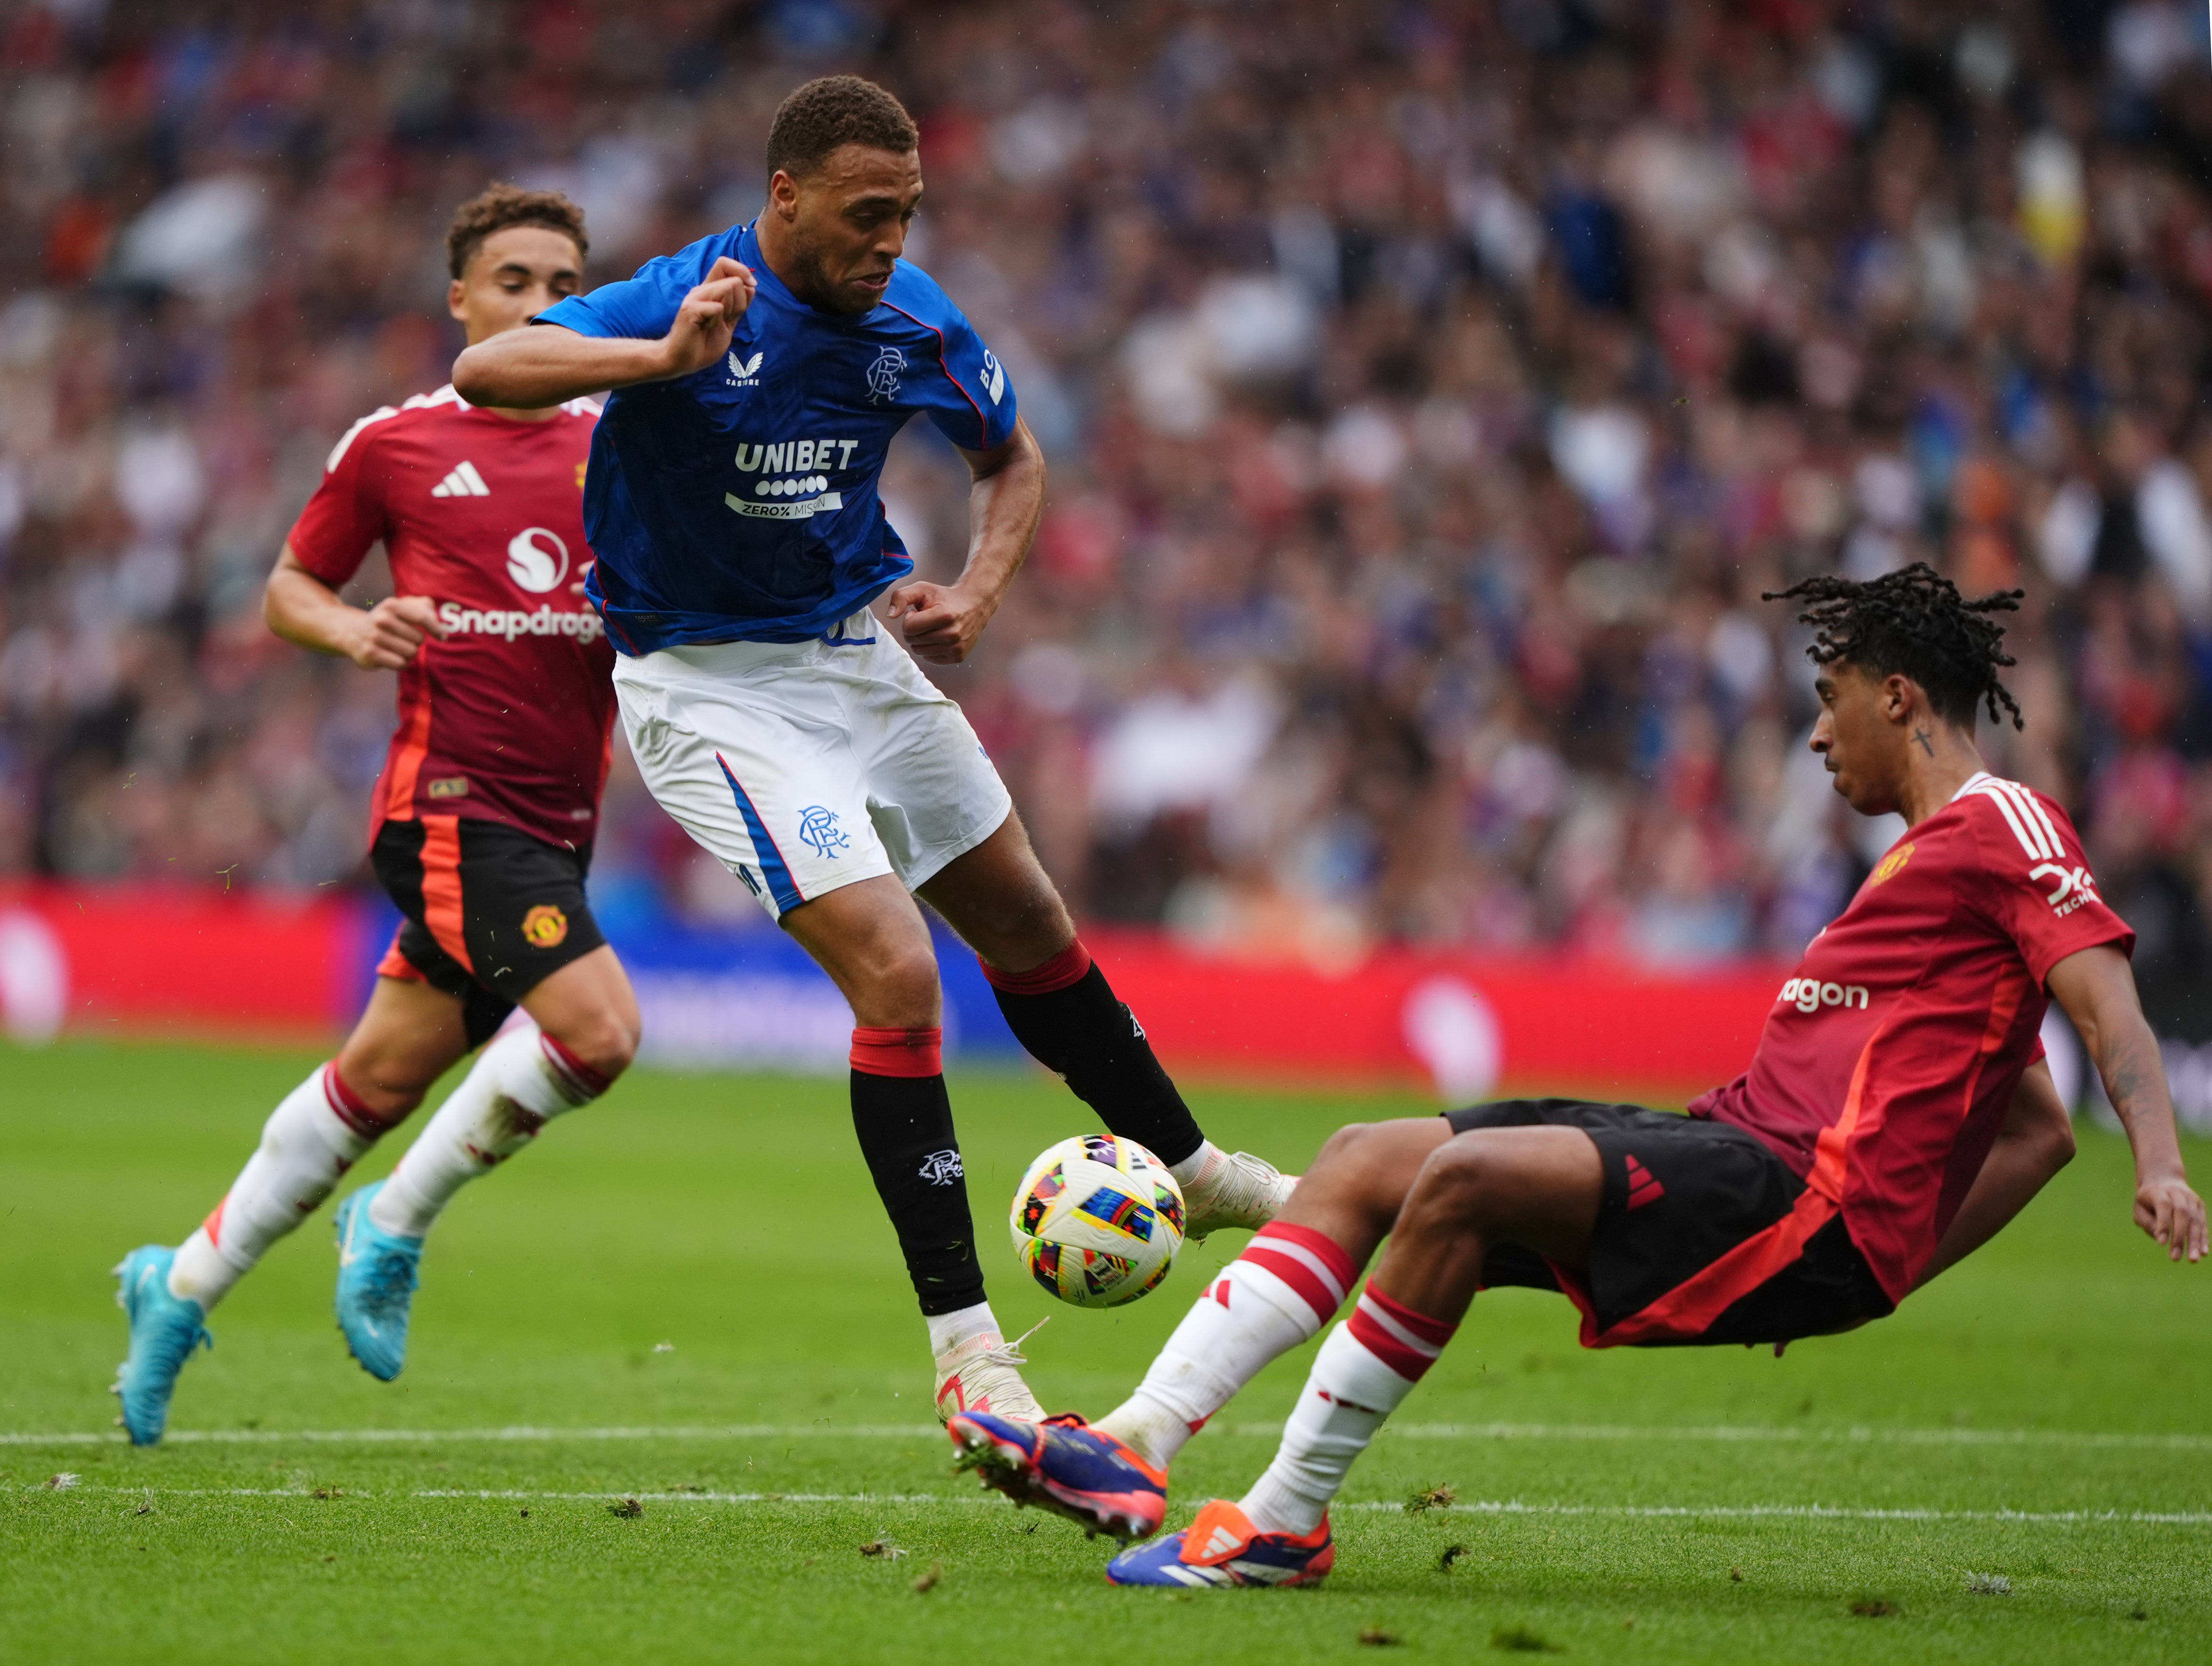
[[2135, 948], [2055, 802], [1975, 776], [1876, 864], [1783, 983], [1750, 1074], [1692, 1116], [1805, 1175], [1798, 1237], [1843, 1211], [1891, 1301], [1911, 1290], [2035, 1058], [2044, 979]]

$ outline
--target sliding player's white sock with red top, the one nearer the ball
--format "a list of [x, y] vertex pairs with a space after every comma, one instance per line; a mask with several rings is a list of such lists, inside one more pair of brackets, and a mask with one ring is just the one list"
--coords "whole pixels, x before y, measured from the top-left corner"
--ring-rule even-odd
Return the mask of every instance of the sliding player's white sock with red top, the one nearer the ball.
[[1312, 1341], [1358, 1268], [1310, 1226], [1270, 1222], [1197, 1299], [1137, 1392], [1097, 1427], [1161, 1469], [1267, 1363]]

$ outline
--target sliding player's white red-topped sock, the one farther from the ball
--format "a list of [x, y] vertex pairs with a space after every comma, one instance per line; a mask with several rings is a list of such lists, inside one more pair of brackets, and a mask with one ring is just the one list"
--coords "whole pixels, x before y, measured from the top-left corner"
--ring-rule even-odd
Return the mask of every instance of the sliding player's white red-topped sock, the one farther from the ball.
[[1409, 1312], [1369, 1284], [1352, 1317], [1314, 1354], [1305, 1392], [1283, 1425], [1267, 1474], [1239, 1507], [1263, 1533], [1303, 1538], [1321, 1527], [1383, 1419], [1442, 1352], [1458, 1326]]

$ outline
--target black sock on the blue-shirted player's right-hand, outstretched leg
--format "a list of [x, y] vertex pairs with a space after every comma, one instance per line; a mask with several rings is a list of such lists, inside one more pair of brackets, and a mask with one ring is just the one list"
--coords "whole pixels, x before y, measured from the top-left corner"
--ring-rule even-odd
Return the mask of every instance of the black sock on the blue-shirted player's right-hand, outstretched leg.
[[1013, 1038], [1060, 1074], [1108, 1129], [1170, 1169], [1206, 1145], [1190, 1107], [1152, 1056], [1144, 1025], [1115, 999], [1079, 941], [1031, 972], [1000, 972], [987, 961], [982, 974]]

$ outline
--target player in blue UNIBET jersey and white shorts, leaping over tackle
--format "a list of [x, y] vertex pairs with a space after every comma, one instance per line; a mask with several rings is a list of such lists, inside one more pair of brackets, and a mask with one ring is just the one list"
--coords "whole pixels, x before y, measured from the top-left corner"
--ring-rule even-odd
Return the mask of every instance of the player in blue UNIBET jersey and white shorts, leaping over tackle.
[[[1040, 1421], [982, 1293], [916, 895], [978, 952], [1022, 1045], [1175, 1171], [1192, 1237], [1263, 1226], [1294, 1182], [1199, 1131], [975, 731], [914, 663], [975, 650], [1044, 502], [1004, 367], [900, 261], [914, 119], [860, 77], [807, 82], [776, 110], [768, 172], [750, 225], [478, 342], [453, 387], [500, 407], [615, 389], [584, 521], [637, 767], [852, 1003], [854, 1127], [929, 1324], [938, 1414]], [[916, 413], [973, 475], [949, 586], [914, 577], [876, 495]]]

